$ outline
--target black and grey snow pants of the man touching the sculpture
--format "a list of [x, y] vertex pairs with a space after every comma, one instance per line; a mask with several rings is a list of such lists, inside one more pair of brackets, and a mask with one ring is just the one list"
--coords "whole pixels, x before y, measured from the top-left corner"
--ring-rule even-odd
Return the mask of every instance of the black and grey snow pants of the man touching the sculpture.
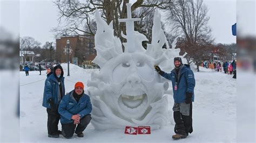
[[182, 135], [192, 133], [192, 103], [174, 103], [172, 110], [173, 118], [176, 123], [174, 132]]

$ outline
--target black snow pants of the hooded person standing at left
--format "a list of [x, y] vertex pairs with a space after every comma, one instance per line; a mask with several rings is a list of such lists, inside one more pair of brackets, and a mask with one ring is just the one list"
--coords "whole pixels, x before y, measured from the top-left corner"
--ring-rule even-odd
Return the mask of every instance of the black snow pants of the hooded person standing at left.
[[47, 128], [48, 128], [48, 134], [55, 135], [58, 134], [58, 124], [60, 115], [58, 113], [58, 110], [52, 110], [50, 108], [46, 109], [48, 113], [48, 121], [47, 121]]

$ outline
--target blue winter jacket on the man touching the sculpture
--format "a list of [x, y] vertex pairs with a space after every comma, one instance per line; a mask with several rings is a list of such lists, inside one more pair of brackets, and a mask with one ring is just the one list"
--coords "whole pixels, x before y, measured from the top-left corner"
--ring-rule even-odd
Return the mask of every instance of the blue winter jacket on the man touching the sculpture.
[[174, 90], [176, 84], [176, 71], [173, 69], [170, 74], [164, 73], [163, 77], [172, 81], [173, 98], [175, 103], [184, 103], [186, 101], [186, 92], [192, 92], [192, 102], [194, 101], [194, 87], [196, 81], [194, 80], [194, 73], [189, 65], [183, 65], [179, 69], [178, 74], [178, 90]]

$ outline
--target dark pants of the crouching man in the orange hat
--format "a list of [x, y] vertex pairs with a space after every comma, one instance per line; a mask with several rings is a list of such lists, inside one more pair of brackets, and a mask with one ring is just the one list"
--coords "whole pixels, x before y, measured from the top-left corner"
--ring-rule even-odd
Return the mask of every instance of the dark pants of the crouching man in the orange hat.
[[69, 124], [62, 124], [62, 135], [69, 139], [72, 138], [74, 131], [75, 133], [83, 132], [90, 123], [91, 119], [91, 115], [86, 115], [80, 119], [80, 123], [78, 125], [74, 124], [73, 122]]

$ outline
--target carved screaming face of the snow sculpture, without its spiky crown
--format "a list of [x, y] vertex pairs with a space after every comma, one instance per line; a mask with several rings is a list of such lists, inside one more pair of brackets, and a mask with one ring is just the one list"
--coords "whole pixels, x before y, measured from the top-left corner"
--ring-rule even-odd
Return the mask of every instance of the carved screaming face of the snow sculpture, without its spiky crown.
[[106, 63], [100, 70], [102, 100], [116, 115], [125, 120], [140, 119], [150, 111], [150, 104], [158, 101], [168, 89], [167, 82], [152, 68], [152, 58], [145, 54], [124, 53]]

